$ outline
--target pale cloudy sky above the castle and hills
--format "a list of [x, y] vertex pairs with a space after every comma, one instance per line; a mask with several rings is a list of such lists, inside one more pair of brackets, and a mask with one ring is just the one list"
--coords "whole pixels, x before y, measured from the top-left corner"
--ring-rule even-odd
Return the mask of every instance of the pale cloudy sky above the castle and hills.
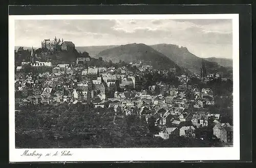
[[75, 46], [176, 44], [201, 58], [232, 58], [231, 19], [15, 20], [15, 46], [54, 37]]

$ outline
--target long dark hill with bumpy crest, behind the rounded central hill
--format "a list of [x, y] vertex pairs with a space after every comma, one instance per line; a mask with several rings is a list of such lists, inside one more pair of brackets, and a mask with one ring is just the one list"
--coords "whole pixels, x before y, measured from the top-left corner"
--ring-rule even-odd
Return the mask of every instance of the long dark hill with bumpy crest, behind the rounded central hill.
[[[166, 55], [180, 67], [187, 68], [194, 73], [200, 73], [202, 59], [189, 52], [186, 47], [179, 47], [173, 44], [156, 44], [151, 47]], [[214, 69], [217, 69], [217, 71], [222, 70], [223, 73], [227, 73], [224, 67], [219, 66], [218, 63], [215, 62], [206, 60], [205, 67], [208, 73], [213, 73]]]

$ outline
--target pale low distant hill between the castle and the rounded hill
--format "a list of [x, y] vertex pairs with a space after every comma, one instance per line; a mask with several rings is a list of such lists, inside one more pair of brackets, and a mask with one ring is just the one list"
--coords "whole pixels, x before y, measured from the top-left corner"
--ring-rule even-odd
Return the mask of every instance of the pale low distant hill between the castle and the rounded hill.
[[103, 51], [105, 49], [114, 48], [118, 45], [103, 45], [103, 46], [77, 46], [76, 50], [78, 52], [88, 52], [91, 57], [95, 57], [100, 51]]

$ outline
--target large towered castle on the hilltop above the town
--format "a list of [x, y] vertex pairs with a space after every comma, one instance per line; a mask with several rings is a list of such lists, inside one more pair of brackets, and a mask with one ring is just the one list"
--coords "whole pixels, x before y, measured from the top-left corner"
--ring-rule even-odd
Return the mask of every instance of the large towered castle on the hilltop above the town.
[[71, 41], [60, 41], [60, 39], [54, 38], [54, 40], [45, 39], [41, 42], [41, 48], [47, 48], [50, 51], [59, 51], [59, 50], [66, 50], [66, 51], [73, 51], [75, 49], [75, 44]]

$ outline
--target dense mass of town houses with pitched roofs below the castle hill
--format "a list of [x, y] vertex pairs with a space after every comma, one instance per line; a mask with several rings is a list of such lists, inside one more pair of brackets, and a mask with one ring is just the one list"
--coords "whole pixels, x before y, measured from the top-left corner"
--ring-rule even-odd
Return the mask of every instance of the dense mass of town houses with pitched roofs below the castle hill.
[[[219, 114], [207, 110], [208, 106], [215, 104], [212, 90], [188, 86], [186, 75], [179, 76], [183, 84], [177, 88], [163, 82], [147, 88], [143, 72], [153, 71], [151, 66], [135, 65], [139, 67], [135, 74], [125, 67], [89, 67], [88, 62], [89, 58], [78, 58], [76, 63], [57, 66], [34, 62], [31, 64], [52, 67], [51, 73], [36, 75], [17, 70], [15, 103], [23, 106], [30, 103], [91, 102], [95, 107], [113, 108], [117, 117], [138, 115], [146, 122], [153, 120], [161, 130], [155, 136], [163, 139], [195, 137], [195, 130], [207, 127], [209, 118], [212, 118], [214, 135], [223, 142], [232, 142], [232, 126], [221, 123]], [[157, 88], [160, 90], [158, 95], [154, 94]], [[106, 102], [108, 106], [105, 106]]]

